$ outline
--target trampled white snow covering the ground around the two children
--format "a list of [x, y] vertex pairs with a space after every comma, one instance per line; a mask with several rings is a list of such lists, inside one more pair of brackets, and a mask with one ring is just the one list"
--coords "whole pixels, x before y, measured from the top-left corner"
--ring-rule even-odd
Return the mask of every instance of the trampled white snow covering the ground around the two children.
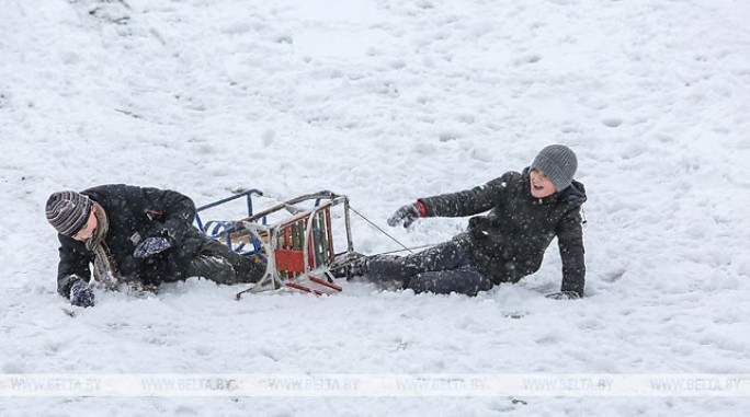
[[[750, 373], [745, 0], [3, 0], [0, 374]], [[47, 196], [197, 205], [332, 189], [385, 227], [417, 197], [579, 155], [587, 298], [536, 275], [477, 298], [197, 279], [56, 293]], [[241, 215], [241, 213], [240, 213]], [[466, 219], [389, 229], [410, 246]], [[359, 218], [355, 247], [397, 245]], [[2, 416], [747, 416], [748, 397], [0, 398]]]

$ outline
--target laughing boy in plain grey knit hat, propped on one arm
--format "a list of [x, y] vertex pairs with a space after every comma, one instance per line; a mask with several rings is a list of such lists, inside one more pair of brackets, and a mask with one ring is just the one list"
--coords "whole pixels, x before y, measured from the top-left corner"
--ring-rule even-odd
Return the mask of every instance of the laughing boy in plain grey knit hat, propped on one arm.
[[427, 251], [408, 256], [350, 254], [332, 265], [334, 276], [363, 276], [395, 282], [416, 292], [476, 296], [501, 282], [518, 282], [537, 271], [557, 236], [562, 285], [554, 299], [583, 296], [586, 265], [581, 205], [583, 184], [573, 181], [578, 160], [561, 144], [544, 148], [522, 173], [468, 190], [420, 198], [398, 209], [388, 224], [408, 228], [421, 217], [486, 216], [469, 219], [468, 230]]

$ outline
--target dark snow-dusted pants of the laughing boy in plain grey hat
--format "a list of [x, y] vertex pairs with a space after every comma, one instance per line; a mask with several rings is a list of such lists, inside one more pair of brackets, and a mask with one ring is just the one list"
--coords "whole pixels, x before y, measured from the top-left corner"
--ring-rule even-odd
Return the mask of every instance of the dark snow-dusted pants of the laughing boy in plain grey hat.
[[453, 242], [407, 256], [375, 255], [367, 262], [365, 277], [384, 285], [395, 282], [418, 293], [476, 296], [492, 288], [489, 278], [481, 275]]

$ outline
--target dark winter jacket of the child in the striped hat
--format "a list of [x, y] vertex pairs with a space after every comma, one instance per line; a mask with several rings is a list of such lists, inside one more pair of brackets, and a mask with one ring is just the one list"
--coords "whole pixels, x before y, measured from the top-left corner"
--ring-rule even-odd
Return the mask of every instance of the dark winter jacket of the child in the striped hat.
[[[89, 188], [81, 194], [104, 209], [110, 223], [104, 243], [117, 273], [128, 280], [158, 285], [182, 279], [185, 268], [206, 240], [192, 225], [195, 205], [177, 192], [120, 184]], [[134, 257], [136, 245], [151, 236], [168, 236], [173, 245], [145, 259]], [[83, 242], [63, 234], [58, 234], [58, 239], [57, 291], [68, 297], [73, 281], [90, 279], [89, 264], [93, 262], [94, 254]]]

